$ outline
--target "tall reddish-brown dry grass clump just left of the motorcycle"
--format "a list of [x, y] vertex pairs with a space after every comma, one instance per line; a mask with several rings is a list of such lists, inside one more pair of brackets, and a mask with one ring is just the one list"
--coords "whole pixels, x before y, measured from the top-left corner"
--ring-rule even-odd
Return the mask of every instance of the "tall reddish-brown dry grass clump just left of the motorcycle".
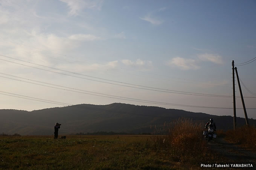
[[[165, 131], [167, 135], [155, 135], [155, 149], [167, 149], [174, 161], [185, 164], [200, 164], [212, 160], [222, 159], [211, 153], [204, 139], [204, 125], [194, 123], [189, 119], [178, 119], [166, 126], [160, 132]], [[211, 154], [209, 154], [211, 153]]]

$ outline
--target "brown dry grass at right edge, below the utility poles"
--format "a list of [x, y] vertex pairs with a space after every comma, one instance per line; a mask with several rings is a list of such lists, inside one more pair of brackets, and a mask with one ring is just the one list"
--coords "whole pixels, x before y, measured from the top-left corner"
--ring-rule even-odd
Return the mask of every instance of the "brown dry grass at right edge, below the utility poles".
[[255, 126], [243, 126], [226, 132], [226, 139], [232, 143], [241, 144], [250, 149], [256, 148]]

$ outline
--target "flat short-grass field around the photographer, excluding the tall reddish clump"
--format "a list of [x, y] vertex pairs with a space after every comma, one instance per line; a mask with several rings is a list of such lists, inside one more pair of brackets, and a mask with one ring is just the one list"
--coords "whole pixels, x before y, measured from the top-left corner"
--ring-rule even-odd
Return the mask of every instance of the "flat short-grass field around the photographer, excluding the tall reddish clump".
[[[152, 145], [152, 146], [151, 146]], [[168, 150], [153, 149], [152, 136], [0, 137], [0, 169], [171, 169]]]

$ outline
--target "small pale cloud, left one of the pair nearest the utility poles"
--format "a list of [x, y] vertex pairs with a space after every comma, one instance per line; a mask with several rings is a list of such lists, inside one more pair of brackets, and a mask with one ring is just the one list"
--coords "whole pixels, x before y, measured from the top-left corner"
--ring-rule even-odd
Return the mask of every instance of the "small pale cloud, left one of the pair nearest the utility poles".
[[182, 57], [174, 57], [166, 63], [168, 66], [175, 66], [182, 70], [199, 69], [196, 60], [184, 59]]

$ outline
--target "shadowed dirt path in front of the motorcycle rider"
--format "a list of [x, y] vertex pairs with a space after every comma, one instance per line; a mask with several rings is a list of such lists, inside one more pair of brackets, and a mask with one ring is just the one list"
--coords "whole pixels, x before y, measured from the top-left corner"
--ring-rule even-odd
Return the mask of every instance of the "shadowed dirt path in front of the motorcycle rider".
[[256, 169], [256, 153], [246, 150], [237, 144], [232, 144], [224, 140], [224, 138], [216, 138], [208, 143], [209, 147], [224, 155], [225, 158], [230, 160], [230, 163], [240, 164], [253, 164], [253, 168]]

